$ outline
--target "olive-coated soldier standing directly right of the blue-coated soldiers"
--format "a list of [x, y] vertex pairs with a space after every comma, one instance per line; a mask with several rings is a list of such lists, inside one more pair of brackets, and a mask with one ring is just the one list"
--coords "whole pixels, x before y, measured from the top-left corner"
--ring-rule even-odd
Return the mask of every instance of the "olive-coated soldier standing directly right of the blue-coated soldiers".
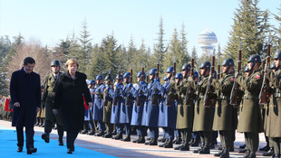
[[[190, 89], [188, 84], [188, 78], [190, 75], [191, 65], [184, 64], [181, 68], [181, 73], [178, 73], [175, 77], [176, 82], [171, 84], [177, 93], [176, 99], [177, 101], [177, 123], [176, 128], [180, 131], [182, 142], [178, 147], [175, 147], [175, 150], [180, 151], [189, 151], [189, 142], [191, 140], [191, 131], [193, 126], [193, 117], [194, 117], [194, 102], [195, 99], [194, 90]], [[187, 94], [188, 93], [188, 94]], [[190, 101], [187, 103], [187, 95], [191, 95], [189, 97]]]

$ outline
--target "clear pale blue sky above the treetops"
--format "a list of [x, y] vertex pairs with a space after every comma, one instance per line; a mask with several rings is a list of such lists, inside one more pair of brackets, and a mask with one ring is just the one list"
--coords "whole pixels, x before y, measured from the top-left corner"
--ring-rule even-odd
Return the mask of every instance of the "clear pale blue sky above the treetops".
[[[0, 0], [0, 35], [21, 33], [25, 41], [39, 40], [56, 46], [73, 33], [79, 35], [86, 21], [92, 43], [113, 33], [119, 44], [128, 46], [131, 38], [137, 47], [141, 40], [152, 49], [157, 42], [160, 18], [164, 40], [171, 40], [182, 24], [187, 33], [189, 52], [206, 29], [216, 33], [221, 48], [228, 42], [239, 0]], [[260, 0], [261, 10], [278, 14], [281, 0]], [[270, 23], [277, 26], [271, 16]], [[218, 43], [215, 46], [218, 46]]]

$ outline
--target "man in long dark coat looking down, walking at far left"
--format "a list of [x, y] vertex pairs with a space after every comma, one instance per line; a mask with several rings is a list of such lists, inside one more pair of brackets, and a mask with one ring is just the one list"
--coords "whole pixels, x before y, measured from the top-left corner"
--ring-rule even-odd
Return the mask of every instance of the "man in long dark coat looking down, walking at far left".
[[12, 126], [16, 127], [17, 152], [23, 152], [24, 126], [27, 154], [36, 153], [34, 148], [34, 120], [41, 107], [40, 76], [33, 72], [35, 60], [24, 59], [24, 67], [12, 74], [10, 94], [14, 105]]

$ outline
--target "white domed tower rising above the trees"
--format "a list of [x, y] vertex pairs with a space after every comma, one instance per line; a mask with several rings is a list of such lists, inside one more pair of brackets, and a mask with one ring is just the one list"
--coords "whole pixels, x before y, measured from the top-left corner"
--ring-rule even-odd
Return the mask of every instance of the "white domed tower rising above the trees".
[[203, 53], [210, 55], [215, 47], [213, 44], [217, 43], [218, 39], [214, 32], [207, 29], [199, 34], [198, 42], [200, 43], [200, 48], [203, 50]]

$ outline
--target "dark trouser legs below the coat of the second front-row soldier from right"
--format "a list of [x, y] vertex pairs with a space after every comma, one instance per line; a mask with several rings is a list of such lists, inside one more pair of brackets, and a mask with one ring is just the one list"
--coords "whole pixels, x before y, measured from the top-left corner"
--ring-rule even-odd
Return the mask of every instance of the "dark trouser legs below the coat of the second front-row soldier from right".
[[244, 136], [245, 136], [245, 144], [246, 144], [247, 151], [256, 153], [258, 148], [258, 141], [259, 141], [258, 133], [245, 132]]

